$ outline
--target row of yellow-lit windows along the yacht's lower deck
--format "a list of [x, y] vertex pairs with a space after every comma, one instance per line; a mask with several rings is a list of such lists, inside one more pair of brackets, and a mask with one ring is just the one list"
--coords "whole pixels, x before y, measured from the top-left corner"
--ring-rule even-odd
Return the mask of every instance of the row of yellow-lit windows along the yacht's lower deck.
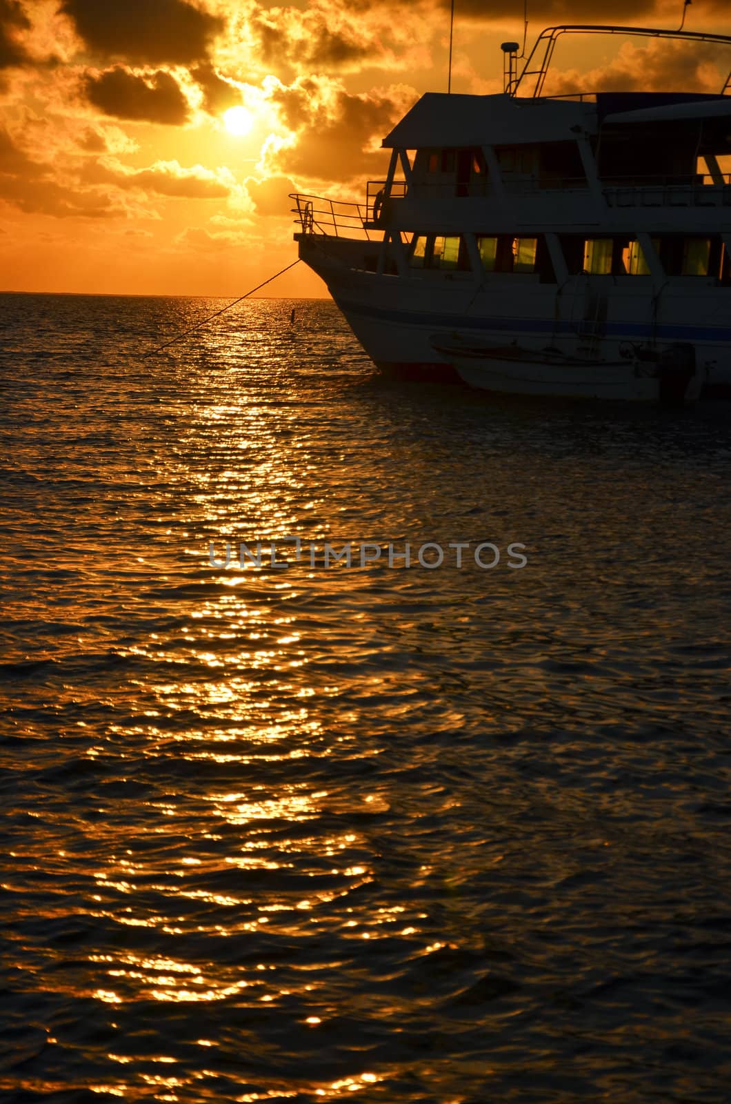
[[[559, 241], [570, 275], [649, 275], [649, 265], [635, 238], [562, 234]], [[668, 235], [654, 237], [651, 242], [668, 276], [711, 276], [731, 283], [731, 258], [720, 237]], [[543, 237], [478, 235], [476, 243], [486, 273], [538, 273], [542, 280], [555, 279]], [[467, 244], [456, 234], [416, 235], [409, 263], [412, 268], [472, 268]]]

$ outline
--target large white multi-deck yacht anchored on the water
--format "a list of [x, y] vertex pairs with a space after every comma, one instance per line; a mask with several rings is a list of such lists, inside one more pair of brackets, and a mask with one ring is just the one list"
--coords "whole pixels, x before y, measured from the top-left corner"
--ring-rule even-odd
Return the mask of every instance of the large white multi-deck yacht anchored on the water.
[[717, 94], [547, 95], [558, 40], [580, 33], [731, 46], [562, 24], [518, 73], [506, 42], [504, 92], [421, 96], [383, 139], [388, 173], [364, 202], [293, 194], [299, 257], [386, 371], [456, 379], [439, 339], [457, 333], [555, 349], [566, 368], [692, 359], [702, 394], [731, 397], [731, 74]]

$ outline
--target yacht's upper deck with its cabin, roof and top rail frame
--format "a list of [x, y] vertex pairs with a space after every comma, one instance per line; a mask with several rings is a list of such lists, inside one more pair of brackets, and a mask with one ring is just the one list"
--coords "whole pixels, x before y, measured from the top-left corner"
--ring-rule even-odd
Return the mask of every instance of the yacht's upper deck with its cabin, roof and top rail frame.
[[579, 32], [712, 42], [731, 59], [724, 35], [576, 24], [544, 31], [516, 76], [506, 43], [504, 93], [426, 93], [383, 139], [391, 164], [368, 185], [366, 230], [731, 234], [731, 82], [542, 94], [558, 39]]

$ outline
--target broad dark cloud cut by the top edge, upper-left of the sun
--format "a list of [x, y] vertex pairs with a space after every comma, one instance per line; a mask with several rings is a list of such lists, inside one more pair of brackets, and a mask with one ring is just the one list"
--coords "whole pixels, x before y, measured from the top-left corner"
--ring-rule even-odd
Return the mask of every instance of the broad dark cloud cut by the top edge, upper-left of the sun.
[[224, 25], [183, 0], [63, 0], [61, 11], [96, 54], [151, 65], [202, 61]]

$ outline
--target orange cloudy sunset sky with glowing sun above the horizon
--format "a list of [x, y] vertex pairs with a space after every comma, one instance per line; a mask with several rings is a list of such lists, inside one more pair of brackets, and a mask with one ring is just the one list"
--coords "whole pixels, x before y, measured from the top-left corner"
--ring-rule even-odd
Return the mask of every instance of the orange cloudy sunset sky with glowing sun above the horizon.
[[[529, 0], [677, 28], [682, 0]], [[239, 296], [296, 258], [290, 192], [362, 201], [446, 91], [448, 0], [0, 0], [0, 291]], [[452, 91], [502, 89], [523, 0], [455, 0]], [[728, 0], [686, 28], [731, 34]], [[731, 50], [564, 39], [550, 91], [719, 92]], [[547, 89], [549, 91], [549, 89]], [[305, 265], [263, 295], [326, 296]]]

